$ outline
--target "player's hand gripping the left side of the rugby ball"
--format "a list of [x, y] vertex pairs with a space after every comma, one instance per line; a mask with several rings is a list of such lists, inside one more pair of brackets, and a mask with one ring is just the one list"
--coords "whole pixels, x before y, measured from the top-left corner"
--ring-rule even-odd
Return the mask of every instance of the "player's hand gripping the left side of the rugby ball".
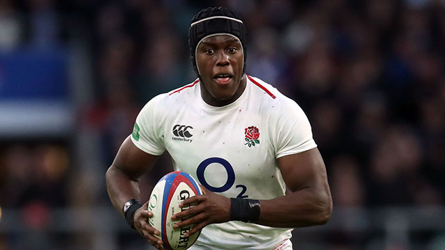
[[152, 225], [149, 224], [148, 219], [153, 216], [153, 213], [148, 210], [148, 201], [136, 210], [134, 213], [134, 228], [143, 235], [147, 241], [156, 247], [156, 249], [163, 249], [163, 242], [155, 235], [159, 235], [159, 230], [156, 230]]

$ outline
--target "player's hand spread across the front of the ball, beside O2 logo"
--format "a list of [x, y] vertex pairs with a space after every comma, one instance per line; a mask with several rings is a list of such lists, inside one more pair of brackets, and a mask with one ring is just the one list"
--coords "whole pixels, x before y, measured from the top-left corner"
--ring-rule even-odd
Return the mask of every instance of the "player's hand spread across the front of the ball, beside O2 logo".
[[210, 192], [202, 185], [201, 189], [204, 194], [190, 197], [179, 204], [181, 208], [193, 207], [172, 216], [172, 220], [184, 219], [184, 221], [175, 224], [174, 228], [194, 224], [191, 231], [184, 235], [185, 237], [197, 233], [209, 224], [229, 222], [230, 220], [230, 199]]

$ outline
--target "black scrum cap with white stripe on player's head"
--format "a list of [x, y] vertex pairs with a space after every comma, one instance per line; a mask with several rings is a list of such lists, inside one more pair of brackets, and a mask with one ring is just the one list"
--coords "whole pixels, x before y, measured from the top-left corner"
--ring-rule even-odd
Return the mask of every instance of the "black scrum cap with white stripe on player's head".
[[188, 46], [190, 47], [191, 61], [196, 74], [200, 76], [196, 65], [196, 48], [204, 38], [214, 34], [227, 34], [238, 38], [243, 47], [244, 73], [246, 53], [243, 21], [232, 10], [224, 7], [209, 7], [202, 9], [193, 17], [188, 29]]

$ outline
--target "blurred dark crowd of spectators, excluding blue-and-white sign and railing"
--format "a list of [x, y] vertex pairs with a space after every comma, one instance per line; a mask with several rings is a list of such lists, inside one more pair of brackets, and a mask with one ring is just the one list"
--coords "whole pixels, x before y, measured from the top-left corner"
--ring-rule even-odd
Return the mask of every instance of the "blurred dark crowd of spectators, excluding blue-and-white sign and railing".
[[[241, 15], [247, 74], [305, 110], [334, 207], [444, 205], [444, 1], [0, 0], [0, 53], [83, 44], [93, 99], [78, 126], [99, 131], [105, 173], [140, 108], [195, 80], [187, 31], [206, 6]], [[49, 141], [1, 144], [2, 208], [75, 206], [70, 142]], [[147, 187], [171, 164], [159, 166]], [[95, 195], [88, 206], [109, 203]]]

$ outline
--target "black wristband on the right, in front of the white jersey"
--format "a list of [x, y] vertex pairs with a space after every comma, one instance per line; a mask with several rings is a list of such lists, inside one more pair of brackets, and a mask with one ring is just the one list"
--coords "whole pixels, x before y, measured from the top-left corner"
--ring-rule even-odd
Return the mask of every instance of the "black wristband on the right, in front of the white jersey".
[[230, 219], [257, 222], [261, 205], [256, 199], [230, 198]]

